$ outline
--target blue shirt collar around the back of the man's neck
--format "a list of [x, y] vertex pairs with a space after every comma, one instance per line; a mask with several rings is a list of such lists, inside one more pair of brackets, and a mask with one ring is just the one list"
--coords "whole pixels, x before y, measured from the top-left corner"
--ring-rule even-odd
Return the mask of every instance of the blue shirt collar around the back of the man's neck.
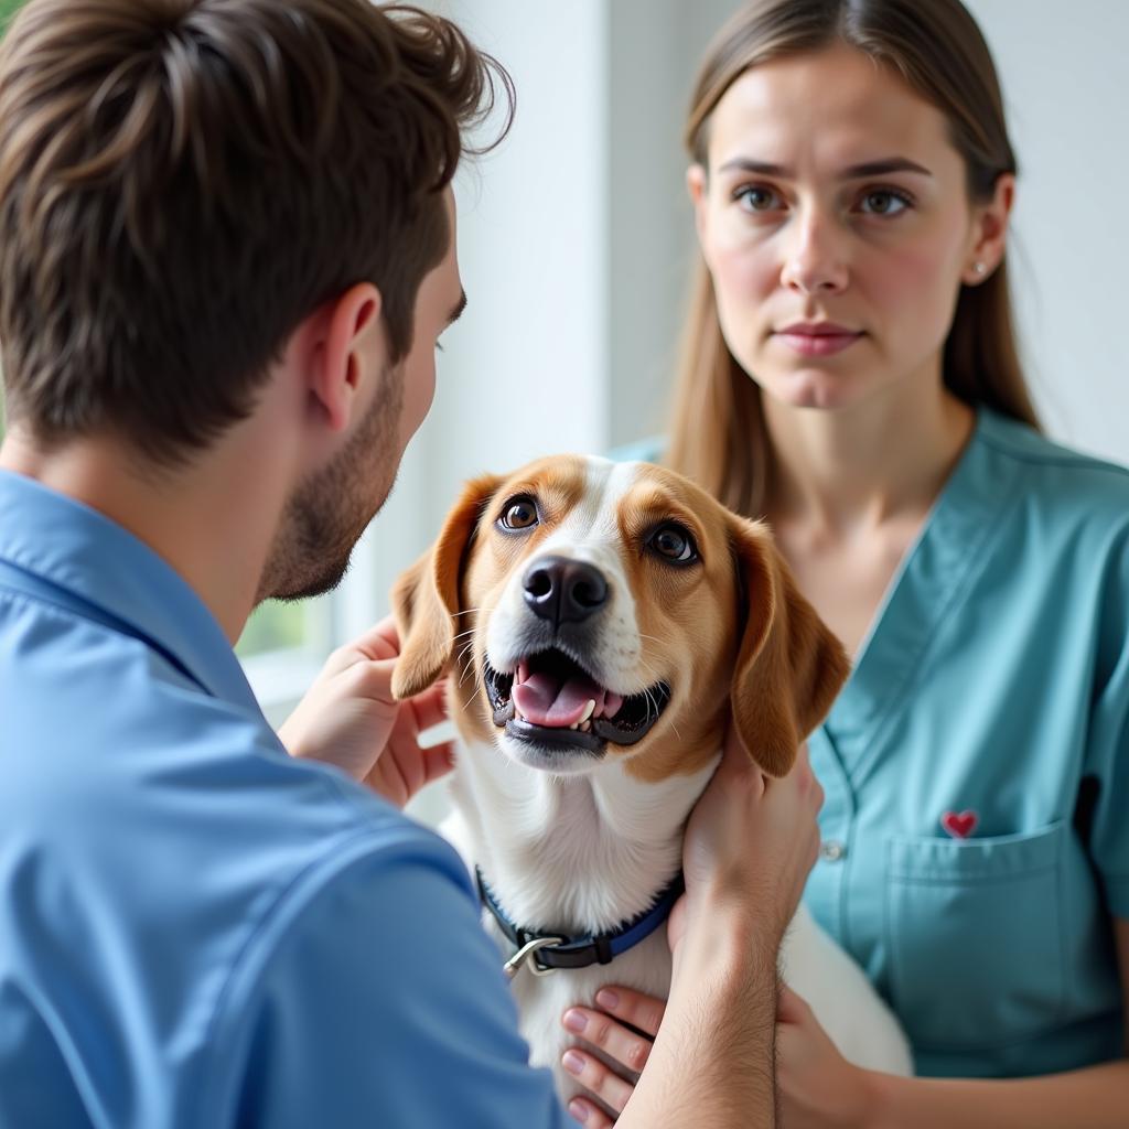
[[190, 585], [82, 502], [0, 471], [0, 559], [73, 593], [175, 655], [211, 694], [260, 712], [239, 660]]

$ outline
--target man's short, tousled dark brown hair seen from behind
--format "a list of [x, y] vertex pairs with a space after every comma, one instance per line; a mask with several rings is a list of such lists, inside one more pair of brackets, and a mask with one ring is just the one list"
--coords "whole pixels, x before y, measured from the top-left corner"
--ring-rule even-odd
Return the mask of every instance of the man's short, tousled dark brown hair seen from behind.
[[441, 190], [499, 88], [508, 128], [505, 70], [413, 8], [30, 0], [0, 46], [9, 421], [177, 461], [361, 281], [402, 358], [450, 238]]

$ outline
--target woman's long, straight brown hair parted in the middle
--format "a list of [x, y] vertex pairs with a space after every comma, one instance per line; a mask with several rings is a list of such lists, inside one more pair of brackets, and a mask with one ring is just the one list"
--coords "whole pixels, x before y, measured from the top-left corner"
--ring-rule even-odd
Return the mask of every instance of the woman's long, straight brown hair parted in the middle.
[[[969, 198], [991, 199], [1016, 172], [991, 54], [960, 0], [756, 0], [718, 33], [686, 122], [691, 158], [708, 168], [718, 102], [751, 67], [847, 43], [892, 69], [937, 106], [964, 158]], [[962, 287], [943, 358], [945, 385], [964, 403], [1039, 427], [1016, 347], [1007, 264]], [[769, 437], [755, 382], [729, 352], [714, 285], [699, 259], [683, 333], [666, 463], [738, 513], [761, 516]]]

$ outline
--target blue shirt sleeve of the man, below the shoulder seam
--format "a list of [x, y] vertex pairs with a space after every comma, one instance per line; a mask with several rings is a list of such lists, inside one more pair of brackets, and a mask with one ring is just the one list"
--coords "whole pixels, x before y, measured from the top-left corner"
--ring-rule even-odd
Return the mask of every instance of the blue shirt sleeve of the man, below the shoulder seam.
[[563, 1129], [465, 881], [427, 855], [362, 859], [271, 961], [240, 1127]]

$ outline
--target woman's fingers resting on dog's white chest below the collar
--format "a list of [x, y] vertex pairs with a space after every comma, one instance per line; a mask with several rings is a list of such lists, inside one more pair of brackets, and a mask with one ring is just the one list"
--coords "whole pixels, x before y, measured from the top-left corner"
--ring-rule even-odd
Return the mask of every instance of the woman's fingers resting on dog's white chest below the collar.
[[[561, 1022], [572, 1034], [619, 1062], [622, 1071], [609, 1069], [579, 1047], [564, 1052], [563, 1065], [566, 1070], [576, 1075], [585, 1089], [609, 1109], [622, 1113], [634, 1089], [634, 1079], [650, 1056], [666, 1001], [630, 988], [615, 987], [601, 988], [596, 992], [596, 1004], [602, 1010], [570, 1007]], [[568, 1109], [586, 1129], [606, 1129], [613, 1123], [603, 1106], [587, 1097], [572, 1099]]]

